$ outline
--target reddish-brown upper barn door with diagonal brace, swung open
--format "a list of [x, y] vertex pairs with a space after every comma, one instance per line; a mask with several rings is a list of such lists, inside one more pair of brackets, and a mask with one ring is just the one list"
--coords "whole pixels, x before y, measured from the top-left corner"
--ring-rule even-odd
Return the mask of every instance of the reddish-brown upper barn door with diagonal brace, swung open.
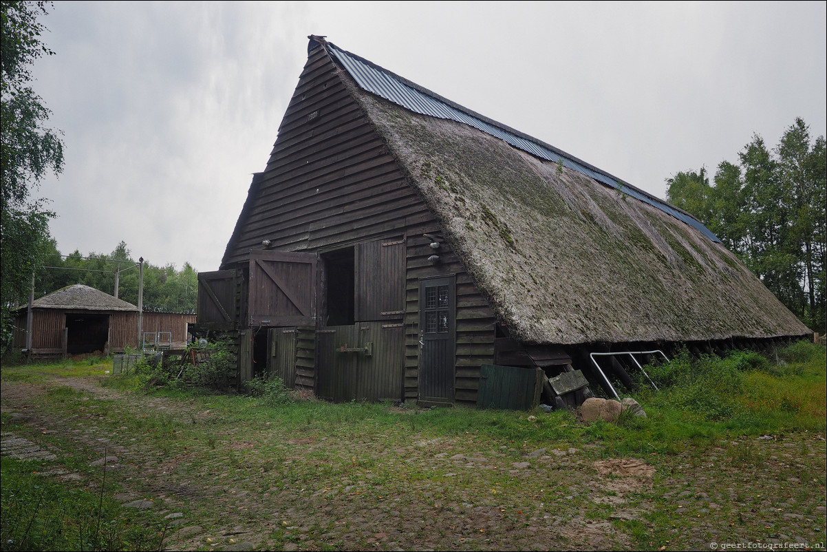
[[250, 327], [316, 324], [316, 255], [250, 253]]

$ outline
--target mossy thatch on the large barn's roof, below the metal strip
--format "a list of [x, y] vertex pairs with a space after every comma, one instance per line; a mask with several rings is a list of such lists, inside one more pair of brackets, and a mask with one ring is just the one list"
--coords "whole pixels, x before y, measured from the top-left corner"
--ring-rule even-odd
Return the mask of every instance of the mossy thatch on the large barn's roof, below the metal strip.
[[700, 223], [678, 220], [665, 202], [658, 208], [489, 132], [414, 113], [345, 71], [342, 79], [515, 338], [573, 344], [810, 333]]

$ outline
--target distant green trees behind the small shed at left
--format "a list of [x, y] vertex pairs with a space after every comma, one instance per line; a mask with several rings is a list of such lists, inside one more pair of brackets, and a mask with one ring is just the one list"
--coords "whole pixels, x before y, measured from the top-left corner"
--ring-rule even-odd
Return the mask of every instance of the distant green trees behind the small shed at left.
[[[35, 298], [73, 284], [84, 284], [132, 305], [138, 304], [139, 268], [125, 242], [118, 243], [108, 254], [90, 252], [82, 254], [77, 249], [68, 255], [57, 250], [50, 240], [43, 266], [35, 272]], [[156, 266], [143, 263], [143, 308], [150, 312], [194, 314], [198, 300], [198, 272], [184, 263], [179, 271], [168, 264]]]

